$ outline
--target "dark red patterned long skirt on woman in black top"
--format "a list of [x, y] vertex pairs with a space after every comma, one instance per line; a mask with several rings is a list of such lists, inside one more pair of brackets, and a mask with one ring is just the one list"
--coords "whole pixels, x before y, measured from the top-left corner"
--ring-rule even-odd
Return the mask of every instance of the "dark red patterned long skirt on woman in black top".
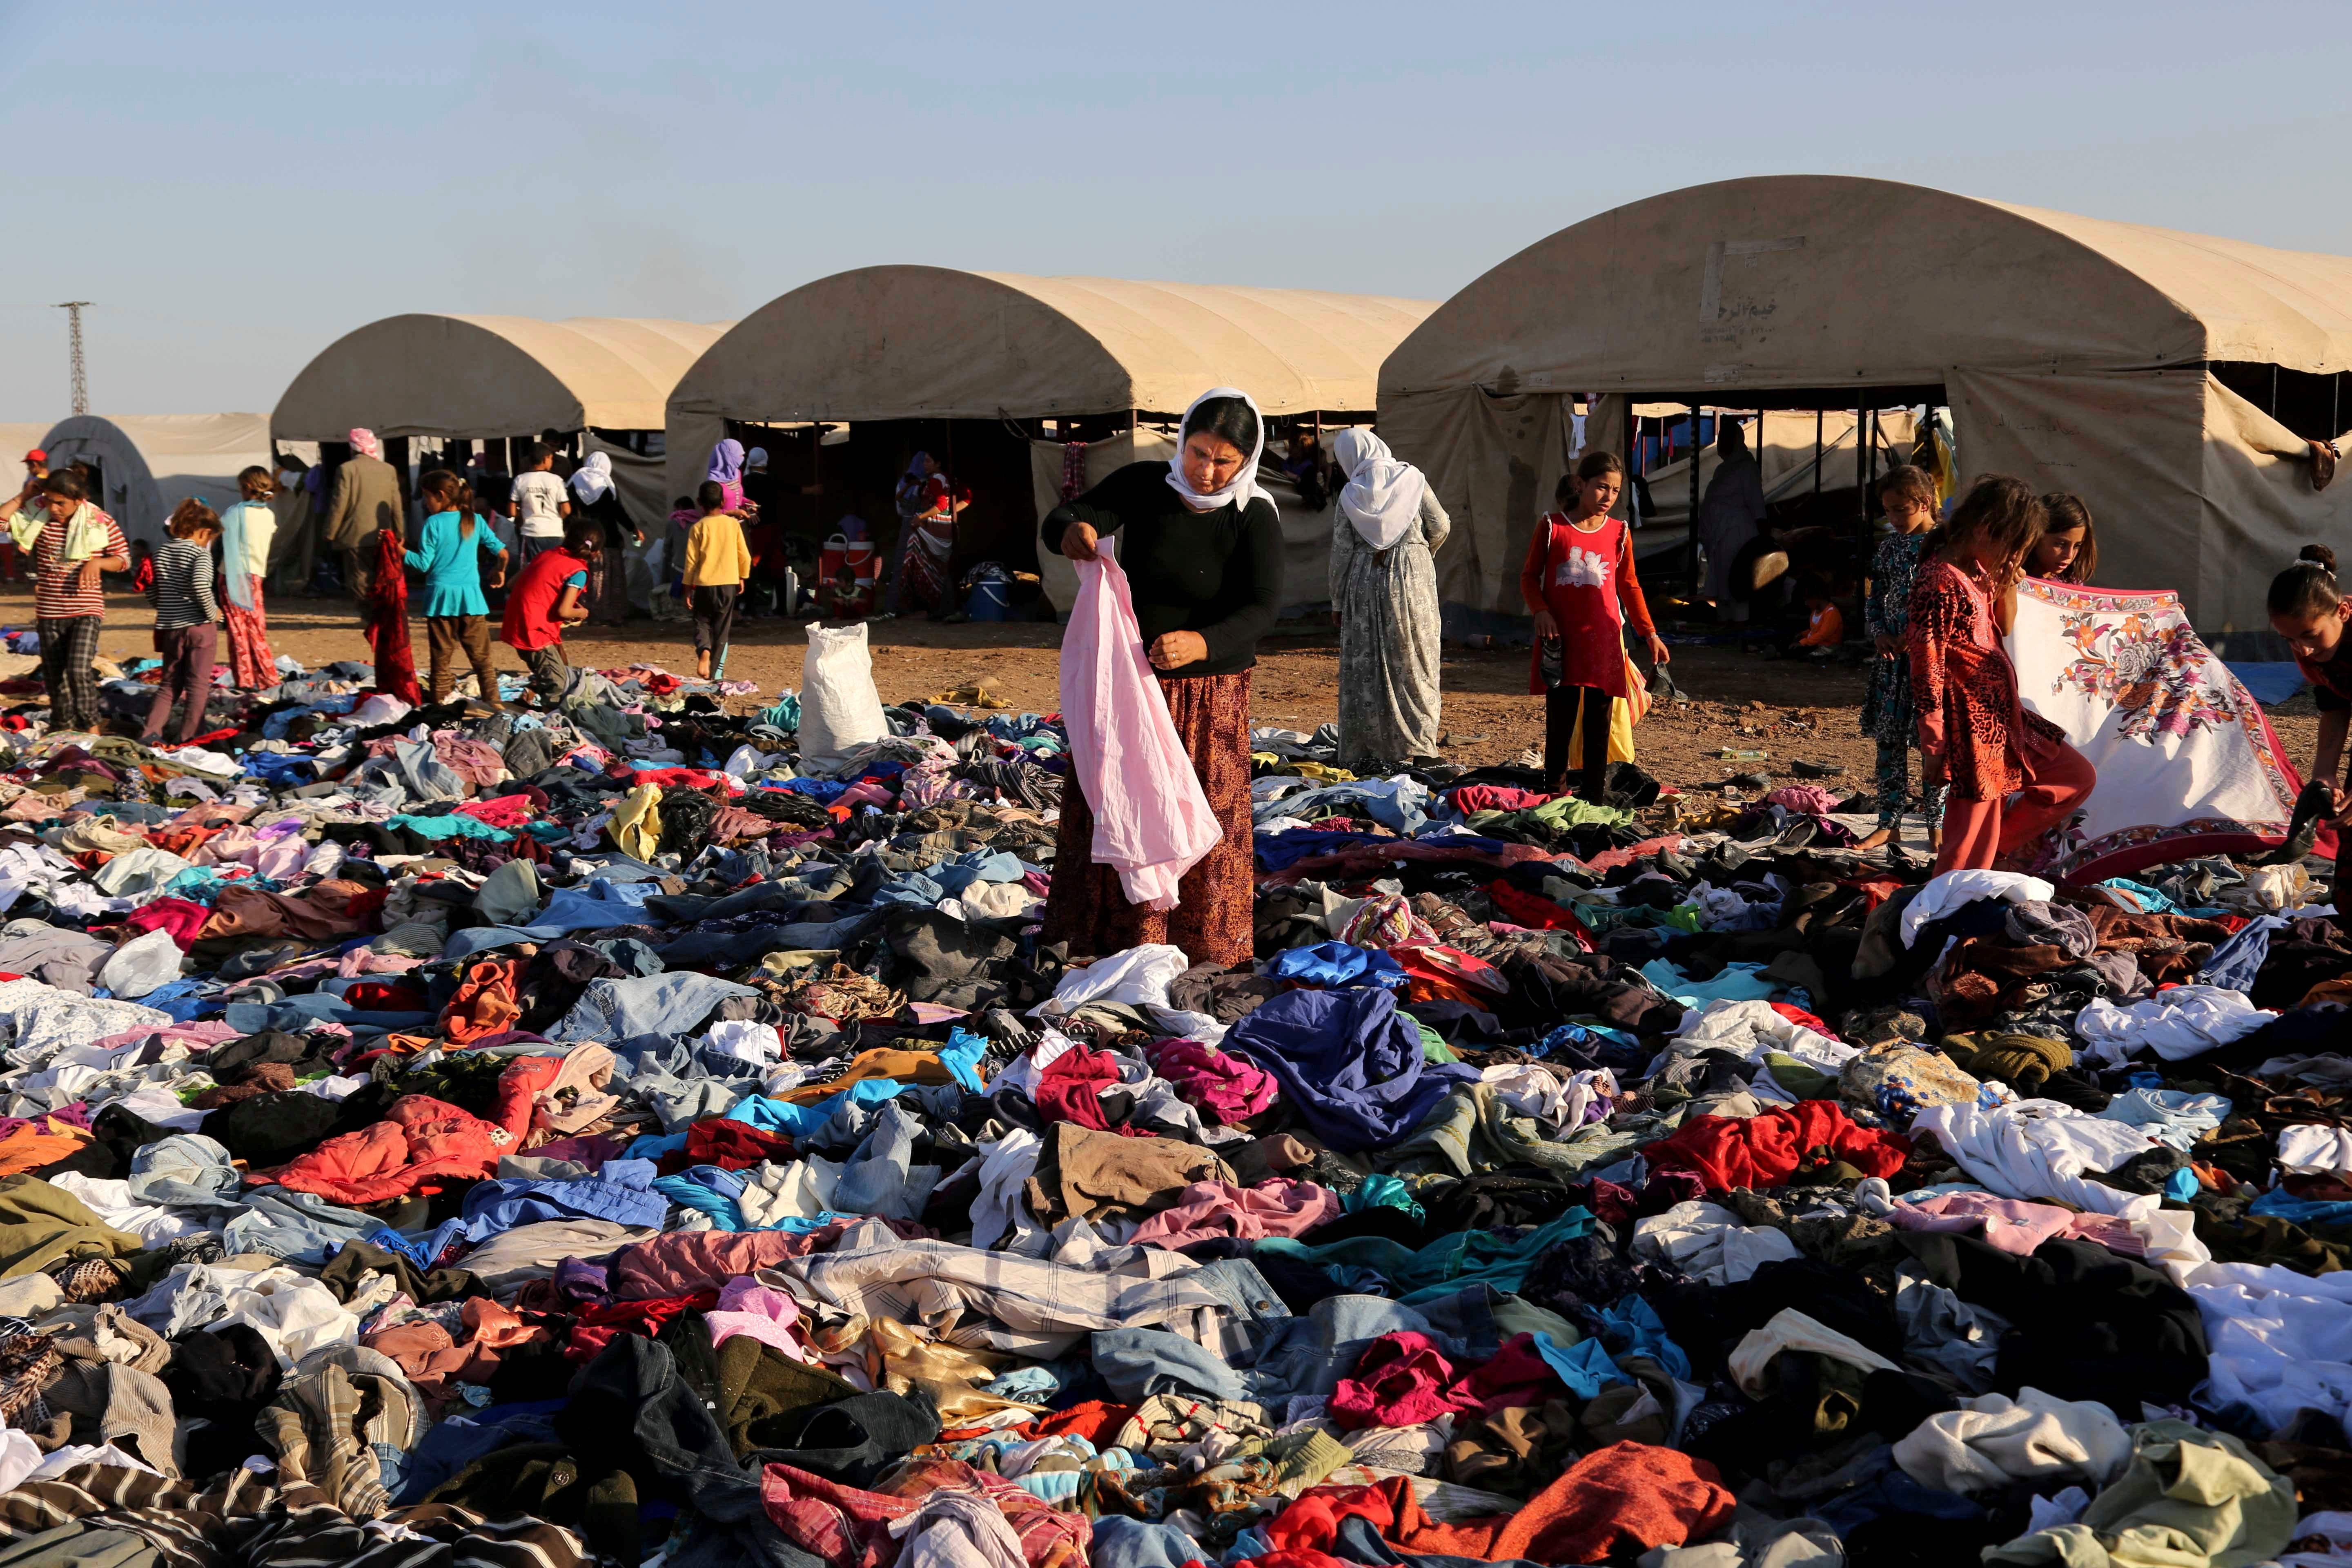
[[1160, 677], [1176, 738], [1209, 795], [1225, 837], [1176, 884], [1174, 910], [1138, 910], [1120, 891], [1120, 872], [1094, 863], [1094, 809], [1077, 780], [1061, 790], [1054, 884], [1044, 900], [1044, 940], [1070, 943], [1070, 957], [1105, 957], [1141, 943], [1171, 943], [1195, 964], [1240, 964], [1254, 950], [1249, 839], [1249, 670], [1240, 675]]

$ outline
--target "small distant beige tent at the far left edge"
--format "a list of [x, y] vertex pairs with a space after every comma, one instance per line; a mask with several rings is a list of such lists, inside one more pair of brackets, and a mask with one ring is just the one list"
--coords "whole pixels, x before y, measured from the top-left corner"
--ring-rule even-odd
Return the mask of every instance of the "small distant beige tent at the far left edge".
[[[99, 505], [132, 541], [162, 541], [162, 524], [188, 496], [212, 510], [238, 503], [238, 475], [270, 468], [270, 421], [261, 414], [75, 414], [38, 442], [49, 468], [85, 461], [99, 470]], [[280, 442], [306, 463], [318, 447]], [[24, 449], [9, 456], [24, 456]]]

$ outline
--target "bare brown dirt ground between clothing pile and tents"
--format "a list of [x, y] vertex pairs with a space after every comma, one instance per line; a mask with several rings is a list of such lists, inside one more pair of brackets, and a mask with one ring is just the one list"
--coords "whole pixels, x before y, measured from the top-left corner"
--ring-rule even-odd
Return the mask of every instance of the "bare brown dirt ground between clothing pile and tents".
[[[355, 611], [343, 599], [278, 597], [268, 604], [270, 644], [306, 665], [367, 658]], [[31, 590], [0, 585], [0, 621], [31, 625]], [[153, 616], [136, 595], [111, 595], [99, 651], [108, 658], [151, 654]], [[419, 670], [423, 623], [412, 623]], [[1051, 712], [1058, 698], [1061, 630], [1040, 623], [936, 625], [924, 618], [880, 621], [870, 628], [875, 686], [884, 703], [931, 698], [981, 684], [1016, 712]], [[694, 632], [687, 621], [630, 621], [626, 628], [590, 625], [567, 639], [572, 663], [602, 670], [633, 663], [670, 672], [694, 670]], [[727, 658], [729, 679], [757, 682], [771, 701], [800, 686], [807, 635], [797, 621], [736, 623]], [[501, 668], [522, 665], [496, 646]], [[1729, 646], [1675, 646], [1675, 684], [1686, 701], [1658, 703], [1635, 731], [1642, 766], [1675, 785], [1705, 785], [1733, 773], [1764, 771], [1795, 778], [1790, 762], [1839, 766], [1832, 790], [1865, 790], [1875, 748], [1863, 738], [1858, 712], [1865, 668], [1860, 663], [1771, 661]], [[1338, 717], [1338, 632], [1327, 625], [1284, 623], [1258, 646], [1251, 689], [1251, 722], [1315, 729]], [[739, 703], [748, 705], [748, 703]], [[2298, 766], [2317, 741], [2310, 698], [2272, 710], [2286, 755]], [[1512, 762], [1543, 745], [1543, 703], [1526, 691], [1526, 649], [1470, 649], [1446, 644], [1442, 750], [1463, 766]], [[1726, 762], [1722, 750], [1762, 750], [1764, 762]]]

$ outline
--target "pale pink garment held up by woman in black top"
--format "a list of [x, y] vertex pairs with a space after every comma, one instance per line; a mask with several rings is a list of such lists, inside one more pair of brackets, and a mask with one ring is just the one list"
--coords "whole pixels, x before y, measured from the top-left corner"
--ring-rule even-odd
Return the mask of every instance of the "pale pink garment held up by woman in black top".
[[1143, 656], [1127, 574], [1110, 538], [1077, 567], [1077, 604], [1061, 635], [1061, 719], [1077, 788], [1094, 809], [1094, 863], [1120, 872], [1141, 910], [1174, 910], [1176, 884], [1225, 837], [1176, 738]]

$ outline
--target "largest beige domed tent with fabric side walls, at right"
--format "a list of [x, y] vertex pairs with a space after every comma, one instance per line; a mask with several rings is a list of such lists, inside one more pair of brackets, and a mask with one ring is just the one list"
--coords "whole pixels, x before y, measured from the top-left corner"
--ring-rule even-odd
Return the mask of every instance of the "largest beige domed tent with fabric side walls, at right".
[[[2340, 538], [2352, 480], [2312, 489], [2310, 435], [2223, 371], [2352, 369], [2352, 259], [2011, 207], [1877, 179], [1670, 190], [1538, 240], [1381, 367], [1381, 430], [1463, 548], [1449, 602], [1517, 609], [1512, 576], [1599, 397], [1853, 409], [1950, 404], [1964, 475], [2084, 496], [2100, 581], [2173, 588], [2201, 630], [2263, 628], [2296, 550]], [[2274, 386], [2274, 378], [2272, 378]], [[2307, 404], [2312, 407], [2312, 404]]]

